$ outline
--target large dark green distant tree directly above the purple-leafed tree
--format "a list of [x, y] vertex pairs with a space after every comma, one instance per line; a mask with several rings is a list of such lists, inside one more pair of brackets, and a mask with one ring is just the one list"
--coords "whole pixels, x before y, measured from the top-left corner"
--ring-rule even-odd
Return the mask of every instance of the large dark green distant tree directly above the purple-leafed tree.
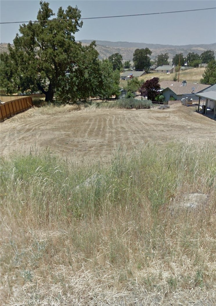
[[151, 66], [150, 57], [151, 50], [149, 48], [136, 49], [133, 54], [133, 62], [136, 70], [145, 70], [146, 73], [149, 72]]

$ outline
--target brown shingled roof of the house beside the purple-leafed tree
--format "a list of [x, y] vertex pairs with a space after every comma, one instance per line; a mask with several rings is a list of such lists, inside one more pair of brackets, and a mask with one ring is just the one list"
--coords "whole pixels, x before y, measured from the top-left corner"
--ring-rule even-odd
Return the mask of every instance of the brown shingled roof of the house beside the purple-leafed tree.
[[[181, 82], [174, 82], [174, 81], [162, 81], [160, 82], [160, 86], [163, 89], [166, 88], [171, 89], [176, 95], [196, 93], [209, 87], [209, 85], [198, 84], [198, 83], [194, 84], [191, 82], [187, 82], [186, 86], [182, 86]], [[192, 90], [192, 88], [194, 88], [194, 90]]]

